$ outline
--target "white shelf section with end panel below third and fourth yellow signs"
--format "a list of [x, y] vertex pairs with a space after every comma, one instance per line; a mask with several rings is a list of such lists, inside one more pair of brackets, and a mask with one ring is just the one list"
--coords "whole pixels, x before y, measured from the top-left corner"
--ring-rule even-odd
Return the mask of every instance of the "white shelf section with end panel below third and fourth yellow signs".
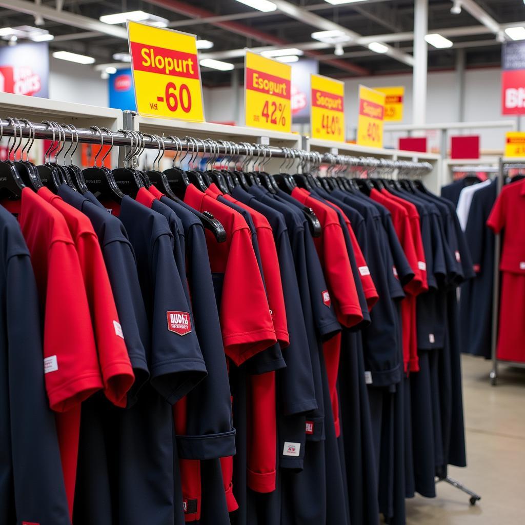
[[390, 150], [385, 148], [369, 148], [348, 142], [334, 142], [329, 140], [312, 139], [303, 140], [303, 149], [307, 151], [319, 151], [320, 153], [332, 153], [334, 155], [352, 155], [356, 157], [372, 156], [377, 159], [407, 160], [416, 162], [428, 162], [432, 164], [433, 170], [426, 174], [425, 185], [433, 193], [439, 193], [439, 174], [441, 171], [441, 156], [436, 153], [418, 153], [414, 151]]

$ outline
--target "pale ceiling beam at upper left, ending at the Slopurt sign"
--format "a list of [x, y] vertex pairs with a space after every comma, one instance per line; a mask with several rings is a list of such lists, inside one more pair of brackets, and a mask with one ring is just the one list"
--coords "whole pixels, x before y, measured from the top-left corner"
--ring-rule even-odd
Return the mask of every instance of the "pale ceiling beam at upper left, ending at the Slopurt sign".
[[5, 7], [18, 13], [25, 13], [26, 15], [40, 15], [46, 20], [54, 20], [66, 26], [79, 27], [88, 31], [99, 31], [99, 33], [116, 38], [128, 39], [128, 31], [123, 27], [104, 24], [95, 18], [76, 15], [64, 10], [58, 11], [52, 7], [35, 4], [27, 0], [0, 0], [0, 7]]

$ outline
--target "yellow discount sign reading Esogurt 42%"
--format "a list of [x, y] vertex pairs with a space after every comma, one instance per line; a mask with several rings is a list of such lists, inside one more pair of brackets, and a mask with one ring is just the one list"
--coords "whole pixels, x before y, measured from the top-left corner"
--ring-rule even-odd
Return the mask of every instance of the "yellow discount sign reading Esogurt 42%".
[[246, 51], [244, 100], [247, 126], [291, 131], [291, 74], [291, 66]]

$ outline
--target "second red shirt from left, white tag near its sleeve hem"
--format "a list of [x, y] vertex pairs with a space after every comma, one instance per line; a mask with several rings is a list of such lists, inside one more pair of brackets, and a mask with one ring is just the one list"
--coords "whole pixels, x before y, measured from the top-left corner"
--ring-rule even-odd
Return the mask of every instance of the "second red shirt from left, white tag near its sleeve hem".
[[46, 187], [40, 188], [38, 195], [53, 205], [66, 219], [77, 248], [86, 288], [104, 393], [113, 404], [125, 408], [127, 392], [135, 377], [98, 237], [89, 218], [64, 202], [61, 197], [51, 193]]

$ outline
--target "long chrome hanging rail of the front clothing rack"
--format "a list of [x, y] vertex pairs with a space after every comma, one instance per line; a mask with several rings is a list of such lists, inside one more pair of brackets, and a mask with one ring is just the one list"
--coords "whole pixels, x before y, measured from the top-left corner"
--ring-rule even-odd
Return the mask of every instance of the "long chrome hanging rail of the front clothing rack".
[[[321, 154], [316, 151], [304, 151], [292, 148], [279, 148], [277, 146], [249, 144], [247, 142], [233, 143], [224, 141], [212, 141], [211, 139], [193, 139], [191, 137], [176, 138], [158, 137], [158, 135], [143, 134], [136, 131], [101, 130], [98, 127], [77, 128], [71, 124], [58, 124], [54, 126], [45, 122], [30, 122], [27, 119], [0, 119], [0, 139], [2, 137], [15, 137], [17, 139], [39, 139], [55, 140], [57, 142], [78, 142], [84, 144], [99, 144], [112, 146], [123, 146], [131, 148], [136, 146], [137, 140], [132, 138], [133, 133], [139, 133], [141, 148], [155, 150], [170, 150], [192, 153], [213, 153], [216, 155], [240, 155], [250, 156], [251, 159], [280, 158], [290, 161], [299, 160], [304, 162], [317, 162], [320, 164], [359, 166], [368, 169], [403, 169], [415, 170], [418, 173], [432, 171], [432, 165], [428, 162], [394, 161], [376, 159], [374, 157], [355, 157], [351, 155]], [[67, 127], [65, 127], [67, 126]], [[72, 128], [72, 129], [70, 129]], [[213, 145], [212, 145], [213, 144]], [[162, 145], [162, 146], [161, 146]]]

